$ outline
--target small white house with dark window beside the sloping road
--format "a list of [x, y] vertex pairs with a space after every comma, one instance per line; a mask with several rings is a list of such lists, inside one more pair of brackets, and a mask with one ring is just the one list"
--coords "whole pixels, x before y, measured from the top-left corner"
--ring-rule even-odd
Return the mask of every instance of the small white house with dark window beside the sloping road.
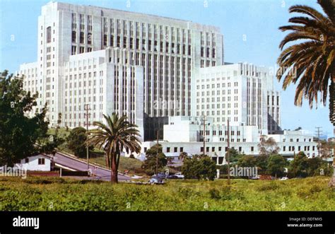
[[30, 171], [50, 171], [51, 163], [51, 158], [49, 156], [39, 154], [37, 156], [30, 156], [22, 159], [20, 163], [16, 164], [16, 168]]

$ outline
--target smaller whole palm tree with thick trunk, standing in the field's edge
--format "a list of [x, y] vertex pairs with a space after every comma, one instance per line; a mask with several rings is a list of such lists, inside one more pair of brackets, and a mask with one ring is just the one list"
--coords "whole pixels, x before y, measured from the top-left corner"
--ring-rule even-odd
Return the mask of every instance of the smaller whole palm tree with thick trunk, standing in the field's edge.
[[136, 129], [136, 124], [131, 124], [127, 116], [113, 113], [112, 117], [103, 115], [105, 122], [93, 122], [93, 126], [98, 127], [88, 131], [86, 144], [103, 149], [106, 153], [107, 167], [111, 165], [111, 182], [117, 183], [117, 169], [119, 168], [119, 158], [122, 151], [141, 151], [141, 134]]

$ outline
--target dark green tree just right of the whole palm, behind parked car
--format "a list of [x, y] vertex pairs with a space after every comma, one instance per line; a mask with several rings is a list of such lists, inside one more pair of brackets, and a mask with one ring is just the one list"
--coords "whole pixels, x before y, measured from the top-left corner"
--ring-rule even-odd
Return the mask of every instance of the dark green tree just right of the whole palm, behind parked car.
[[[158, 147], [158, 148], [157, 148]], [[157, 159], [158, 150], [158, 159]], [[163, 153], [163, 148], [160, 144], [155, 144], [146, 151], [146, 160], [143, 162], [142, 168], [146, 170], [148, 175], [153, 175], [156, 171], [156, 165], [158, 160], [157, 171], [164, 168], [167, 165], [167, 158]]]

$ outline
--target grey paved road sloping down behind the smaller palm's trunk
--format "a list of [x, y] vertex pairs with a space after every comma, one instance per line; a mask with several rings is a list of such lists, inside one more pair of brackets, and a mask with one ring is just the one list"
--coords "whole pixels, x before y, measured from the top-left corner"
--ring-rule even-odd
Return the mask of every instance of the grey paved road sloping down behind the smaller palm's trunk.
[[[78, 171], [87, 171], [87, 163], [84, 163], [80, 160], [76, 160], [75, 158], [71, 158], [70, 156], [65, 156], [60, 153], [56, 153], [54, 155], [54, 163], [58, 163], [67, 168], [71, 168]], [[110, 180], [110, 170], [104, 168], [95, 167], [95, 165], [90, 164], [90, 169], [93, 173], [95, 173], [95, 177], [90, 177], [90, 179], [94, 180]], [[118, 180], [120, 182], [130, 180], [131, 177], [127, 175], [122, 175], [119, 173]]]

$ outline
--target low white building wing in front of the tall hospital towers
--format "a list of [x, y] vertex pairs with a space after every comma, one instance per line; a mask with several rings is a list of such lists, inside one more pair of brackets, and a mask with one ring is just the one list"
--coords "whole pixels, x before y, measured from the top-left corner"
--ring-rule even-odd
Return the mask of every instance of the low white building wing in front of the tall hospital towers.
[[[203, 130], [204, 125], [200, 117], [169, 117], [169, 124], [164, 126], [163, 153], [167, 157], [178, 157], [186, 152], [190, 156], [204, 152]], [[214, 124], [211, 118], [205, 124], [205, 153], [216, 160], [218, 165], [223, 164], [224, 156], [228, 151], [228, 127]], [[257, 126], [231, 126], [230, 148], [246, 155], [259, 155], [259, 141], [262, 136], [273, 138], [279, 147], [281, 155], [291, 157], [300, 151], [312, 158], [317, 156], [317, 142], [306, 131], [283, 131], [283, 134], [259, 134]], [[141, 153], [157, 144], [156, 141], [146, 141], [142, 144]]]

